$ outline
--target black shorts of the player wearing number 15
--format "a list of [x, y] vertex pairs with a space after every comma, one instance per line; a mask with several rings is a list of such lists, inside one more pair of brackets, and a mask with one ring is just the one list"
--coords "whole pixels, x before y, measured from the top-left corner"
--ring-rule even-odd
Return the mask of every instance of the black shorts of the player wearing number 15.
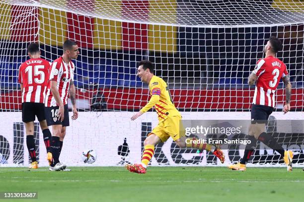
[[27, 123], [34, 121], [37, 116], [38, 121], [45, 120], [44, 103], [23, 102], [22, 103], [22, 121]]

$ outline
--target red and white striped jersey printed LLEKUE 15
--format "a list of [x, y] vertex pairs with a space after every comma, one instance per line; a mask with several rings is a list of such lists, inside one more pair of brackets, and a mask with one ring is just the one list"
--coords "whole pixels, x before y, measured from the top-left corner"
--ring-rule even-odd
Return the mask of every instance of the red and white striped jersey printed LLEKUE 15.
[[31, 58], [20, 65], [18, 82], [23, 84], [22, 103], [44, 103], [50, 64], [42, 58]]

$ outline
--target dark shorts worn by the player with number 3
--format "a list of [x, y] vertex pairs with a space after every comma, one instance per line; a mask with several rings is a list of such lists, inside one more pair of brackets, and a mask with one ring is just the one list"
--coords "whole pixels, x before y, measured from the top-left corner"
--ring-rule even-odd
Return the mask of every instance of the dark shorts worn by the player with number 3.
[[252, 104], [251, 107], [251, 123], [267, 123], [269, 115], [272, 113], [273, 107], [260, 104]]

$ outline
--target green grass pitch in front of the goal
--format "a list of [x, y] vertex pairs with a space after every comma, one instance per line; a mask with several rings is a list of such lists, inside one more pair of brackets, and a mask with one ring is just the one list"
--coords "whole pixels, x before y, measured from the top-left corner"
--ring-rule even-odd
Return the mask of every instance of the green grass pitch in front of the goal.
[[17, 202], [300, 202], [304, 172], [295, 168], [149, 167], [146, 174], [124, 167], [0, 168], [0, 192], [38, 192]]

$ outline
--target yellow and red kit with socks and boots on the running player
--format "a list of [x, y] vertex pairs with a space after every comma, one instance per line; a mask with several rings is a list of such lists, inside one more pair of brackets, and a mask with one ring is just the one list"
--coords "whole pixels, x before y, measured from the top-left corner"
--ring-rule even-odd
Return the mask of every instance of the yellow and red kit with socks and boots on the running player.
[[[181, 115], [175, 108], [171, 99], [169, 88], [161, 78], [152, 76], [149, 83], [149, 90], [151, 94], [150, 101], [141, 109], [141, 112], [146, 112], [153, 106], [158, 116], [158, 125], [153, 128], [152, 132], [148, 134], [155, 134], [161, 142], [165, 142], [171, 136], [174, 141], [185, 137], [185, 129], [181, 122]], [[222, 151], [216, 150], [213, 145], [193, 143], [196, 138], [187, 138], [186, 148], [193, 148], [198, 150], [212, 151], [218, 156], [222, 162], [225, 156]], [[184, 141], [184, 140], [182, 140]], [[146, 145], [142, 155], [142, 164], [129, 165], [127, 167], [131, 172], [146, 173], [146, 167], [154, 154], [154, 145]], [[143, 167], [144, 166], [144, 167]]]

